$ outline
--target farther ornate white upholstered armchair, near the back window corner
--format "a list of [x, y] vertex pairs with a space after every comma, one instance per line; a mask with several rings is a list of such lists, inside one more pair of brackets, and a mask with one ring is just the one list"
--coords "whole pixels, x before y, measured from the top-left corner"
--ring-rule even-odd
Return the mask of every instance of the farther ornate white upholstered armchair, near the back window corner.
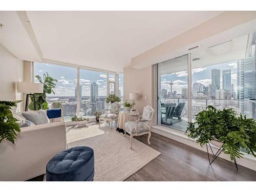
[[120, 104], [118, 102], [111, 103], [110, 110], [102, 110], [102, 114], [99, 116], [99, 126], [101, 125], [101, 120], [105, 120], [110, 122], [110, 127], [112, 129], [112, 122], [115, 121], [115, 124], [117, 124], [116, 121], [118, 120], [119, 111]]

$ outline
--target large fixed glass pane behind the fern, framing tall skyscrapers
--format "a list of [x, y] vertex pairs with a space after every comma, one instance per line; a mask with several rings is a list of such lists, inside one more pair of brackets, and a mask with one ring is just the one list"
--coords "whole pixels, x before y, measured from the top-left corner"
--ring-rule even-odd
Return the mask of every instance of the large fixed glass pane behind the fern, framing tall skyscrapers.
[[255, 33], [191, 54], [192, 120], [212, 105], [255, 118]]

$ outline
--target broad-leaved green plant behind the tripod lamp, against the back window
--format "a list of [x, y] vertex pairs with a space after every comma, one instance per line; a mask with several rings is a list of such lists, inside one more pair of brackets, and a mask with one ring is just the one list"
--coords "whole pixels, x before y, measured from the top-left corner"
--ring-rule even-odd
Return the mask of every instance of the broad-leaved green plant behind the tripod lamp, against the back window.
[[46, 74], [44, 73], [43, 78], [41, 78], [39, 75], [35, 76], [37, 78], [37, 80], [44, 84], [44, 93], [35, 93], [35, 109], [34, 109], [34, 99], [33, 96], [30, 96], [31, 102], [29, 103], [29, 109], [30, 110], [47, 110], [48, 108], [48, 103], [46, 101], [46, 94], [55, 94], [53, 89], [56, 86], [56, 83], [58, 80], [49, 76], [49, 74], [46, 72]]

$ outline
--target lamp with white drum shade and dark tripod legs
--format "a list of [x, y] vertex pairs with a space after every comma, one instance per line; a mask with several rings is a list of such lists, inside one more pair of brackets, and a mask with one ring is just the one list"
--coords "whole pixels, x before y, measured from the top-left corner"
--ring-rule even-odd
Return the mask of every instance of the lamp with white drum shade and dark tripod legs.
[[25, 111], [28, 111], [29, 95], [33, 95], [33, 105], [35, 110], [34, 93], [44, 93], [44, 84], [36, 82], [17, 82], [17, 93], [30, 93], [26, 96]]

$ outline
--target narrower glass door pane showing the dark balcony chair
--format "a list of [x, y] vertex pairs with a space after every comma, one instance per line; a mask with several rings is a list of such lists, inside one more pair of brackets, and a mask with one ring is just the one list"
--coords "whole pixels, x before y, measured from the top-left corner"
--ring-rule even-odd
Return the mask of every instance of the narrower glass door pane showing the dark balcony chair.
[[186, 131], [188, 55], [158, 63], [158, 124]]

